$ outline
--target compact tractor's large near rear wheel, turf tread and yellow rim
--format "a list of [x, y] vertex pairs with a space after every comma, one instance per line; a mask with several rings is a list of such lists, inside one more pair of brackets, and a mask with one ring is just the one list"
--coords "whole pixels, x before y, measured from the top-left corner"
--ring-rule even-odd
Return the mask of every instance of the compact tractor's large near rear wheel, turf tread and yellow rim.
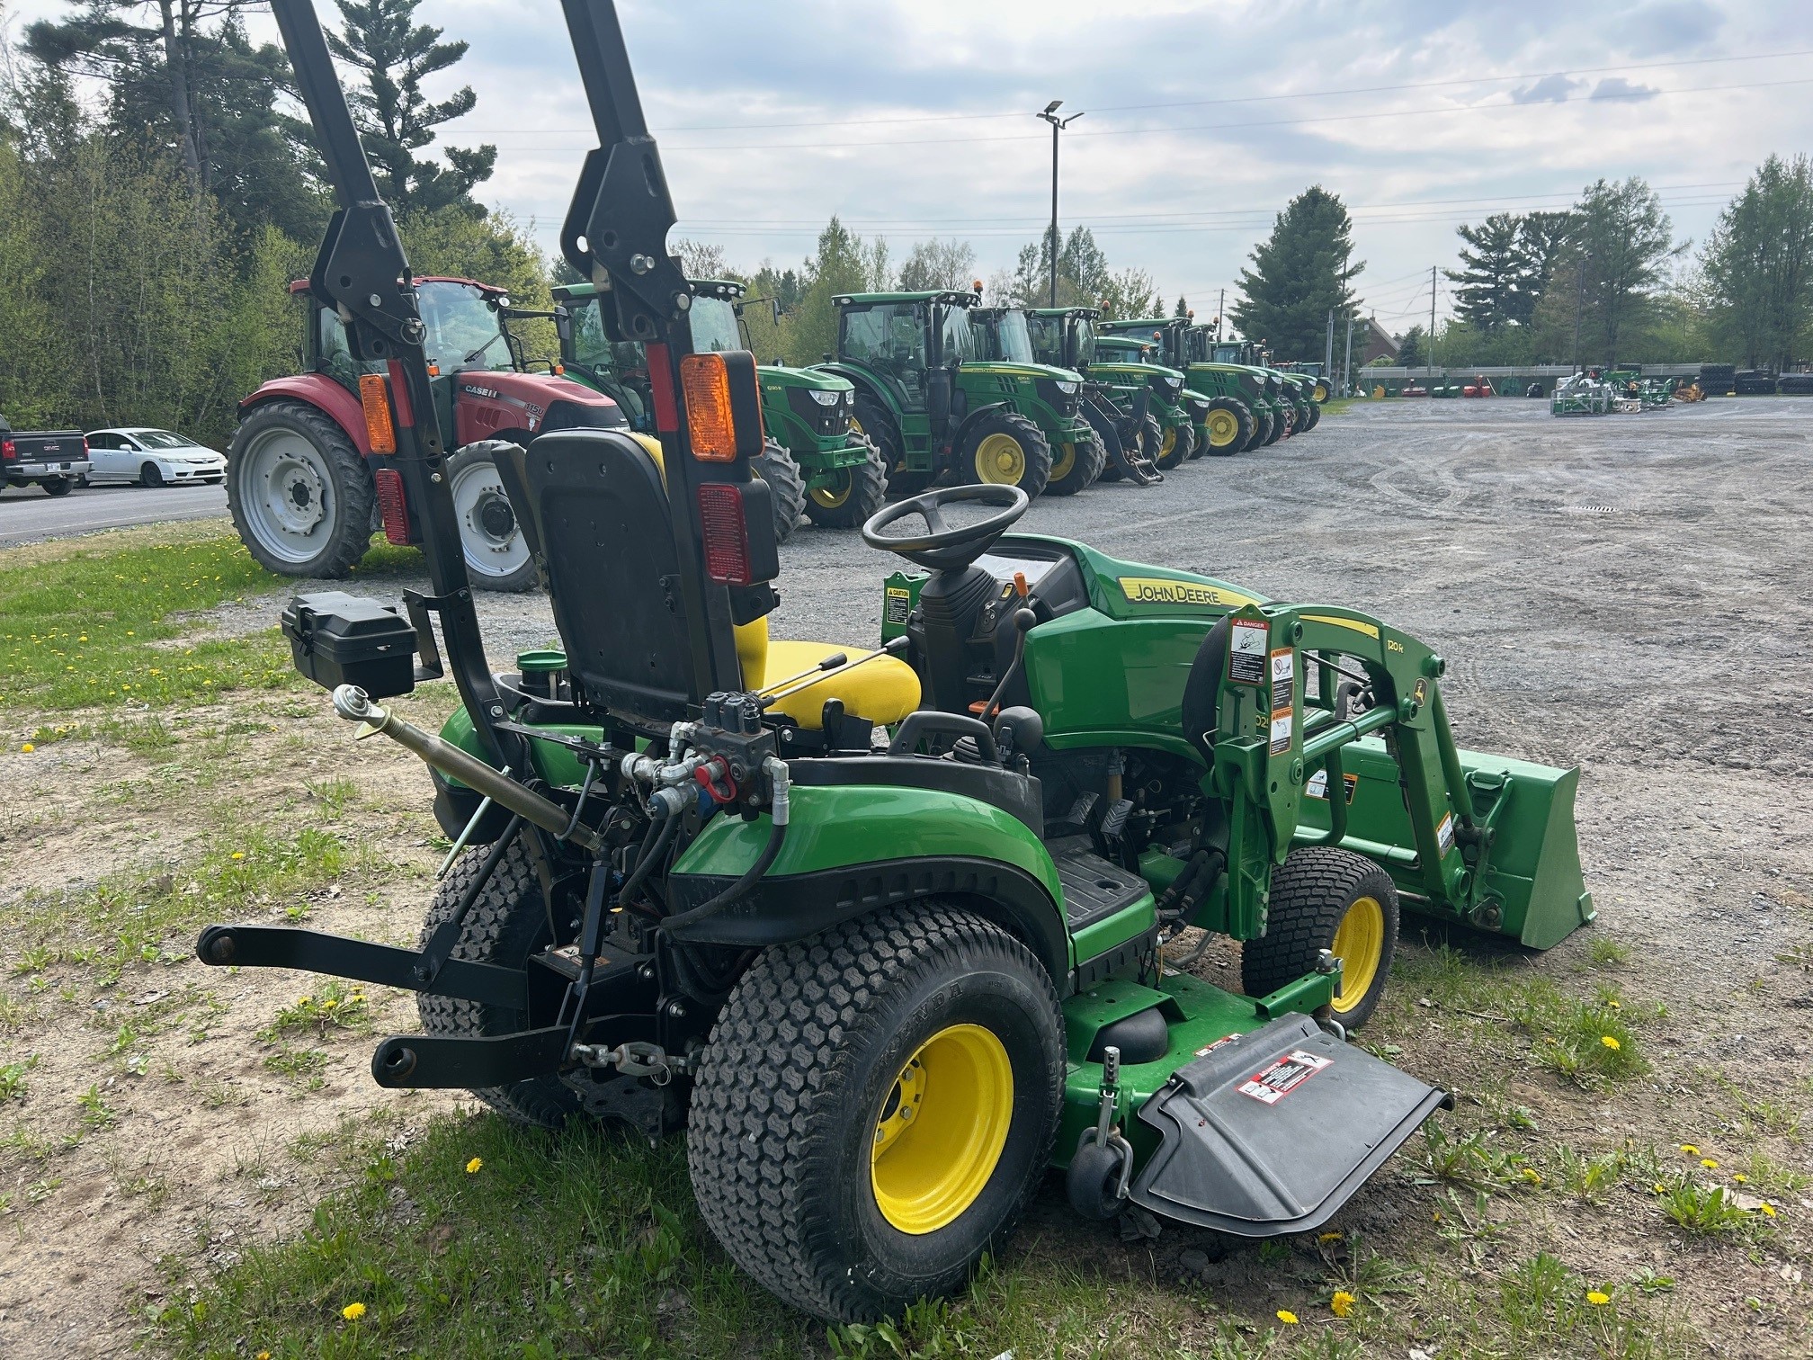
[[1044, 1177], [1064, 1084], [1052, 979], [939, 901], [769, 948], [705, 1048], [700, 1213], [783, 1302], [894, 1316], [963, 1286]]

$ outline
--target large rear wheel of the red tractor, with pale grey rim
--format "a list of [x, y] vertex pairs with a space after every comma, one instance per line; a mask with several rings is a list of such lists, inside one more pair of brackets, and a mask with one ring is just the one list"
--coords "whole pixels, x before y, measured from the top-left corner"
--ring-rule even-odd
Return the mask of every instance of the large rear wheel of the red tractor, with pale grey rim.
[[227, 510], [279, 577], [344, 577], [372, 546], [377, 488], [334, 421], [301, 401], [252, 410], [227, 448]]

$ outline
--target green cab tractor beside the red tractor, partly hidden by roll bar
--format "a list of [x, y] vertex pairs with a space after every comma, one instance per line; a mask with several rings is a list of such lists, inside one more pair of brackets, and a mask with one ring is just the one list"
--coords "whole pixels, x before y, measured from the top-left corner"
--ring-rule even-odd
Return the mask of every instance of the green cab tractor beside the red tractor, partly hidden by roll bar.
[[[689, 287], [694, 348], [738, 348], [747, 334], [738, 316], [743, 285], [689, 279]], [[562, 285], [553, 294], [560, 361], [567, 375], [615, 399], [629, 415], [631, 428], [653, 432], [644, 348], [611, 343], [593, 285]], [[785, 520], [781, 539], [792, 531], [801, 508], [821, 528], [859, 528], [887, 500], [888, 475], [876, 446], [850, 428], [856, 390], [848, 381], [816, 368], [763, 364], [760, 374], [761, 417], [776, 448], [767, 450], [756, 471], [774, 486], [776, 524]]]

